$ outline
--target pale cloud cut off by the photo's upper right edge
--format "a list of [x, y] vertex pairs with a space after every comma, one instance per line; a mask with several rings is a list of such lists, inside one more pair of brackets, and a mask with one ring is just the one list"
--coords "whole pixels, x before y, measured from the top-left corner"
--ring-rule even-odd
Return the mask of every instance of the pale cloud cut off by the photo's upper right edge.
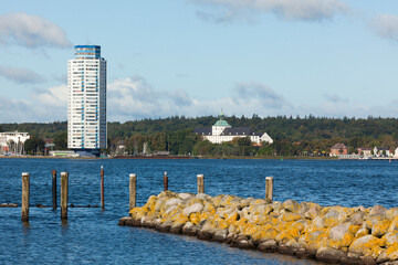
[[398, 17], [395, 14], [376, 15], [370, 26], [381, 38], [398, 41]]

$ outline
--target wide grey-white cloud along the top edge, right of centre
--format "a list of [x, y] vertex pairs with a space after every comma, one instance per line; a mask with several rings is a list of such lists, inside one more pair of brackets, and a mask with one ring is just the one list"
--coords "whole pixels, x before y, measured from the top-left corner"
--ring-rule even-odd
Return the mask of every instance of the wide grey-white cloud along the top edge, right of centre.
[[[234, 18], [251, 20], [253, 12], [272, 12], [284, 20], [323, 21], [337, 13], [346, 13], [348, 7], [339, 0], [188, 0], [189, 2], [212, 4], [221, 13], [198, 11], [197, 15], [213, 22], [229, 22]], [[217, 12], [218, 10], [216, 10]]]

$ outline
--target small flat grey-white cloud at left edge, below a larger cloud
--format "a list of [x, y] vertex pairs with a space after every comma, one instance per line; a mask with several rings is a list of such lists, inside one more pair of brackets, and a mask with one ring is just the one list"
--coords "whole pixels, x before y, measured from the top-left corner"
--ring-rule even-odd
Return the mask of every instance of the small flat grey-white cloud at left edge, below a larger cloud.
[[44, 82], [44, 77], [28, 68], [0, 66], [0, 76], [18, 84], [36, 84]]

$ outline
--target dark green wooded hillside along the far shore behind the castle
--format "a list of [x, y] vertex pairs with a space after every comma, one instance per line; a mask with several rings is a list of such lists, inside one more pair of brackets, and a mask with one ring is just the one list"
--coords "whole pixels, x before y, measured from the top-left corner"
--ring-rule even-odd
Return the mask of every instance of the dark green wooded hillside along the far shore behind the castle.
[[[266, 131], [274, 144], [253, 147], [247, 142], [213, 145], [201, 141], [193, 129], [211, 126], [214, 116], [188, 118], [174, 116], [126, 123], [108, 123], [108, 149], [125, 145], [125, 152], [142, 153], [144, 145], [149, 151], [169, 151], [172, 155], [213, 156], [322, 156], [336, 142], [343, 142], [354, 152], [358, 147], [398, 146], [398, 119], [396, 118], [327, 118], [314, 117], [227, 117], [233, 127], [251, 127]], [[28, 131], [38, 138], [57, 138], [65, 144], [66, 121], [51, 124], [1, 124], [0, 131]]]

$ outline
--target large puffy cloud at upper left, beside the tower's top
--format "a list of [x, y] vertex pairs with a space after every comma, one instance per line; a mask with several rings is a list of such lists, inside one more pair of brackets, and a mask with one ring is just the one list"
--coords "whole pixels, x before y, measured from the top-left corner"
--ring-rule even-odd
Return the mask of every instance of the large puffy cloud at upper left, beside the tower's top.
[[0, 15], [0, 43], [27, 47], [70, 47], [72, 45], [60, 26], [39, 15], [27, 13]]

